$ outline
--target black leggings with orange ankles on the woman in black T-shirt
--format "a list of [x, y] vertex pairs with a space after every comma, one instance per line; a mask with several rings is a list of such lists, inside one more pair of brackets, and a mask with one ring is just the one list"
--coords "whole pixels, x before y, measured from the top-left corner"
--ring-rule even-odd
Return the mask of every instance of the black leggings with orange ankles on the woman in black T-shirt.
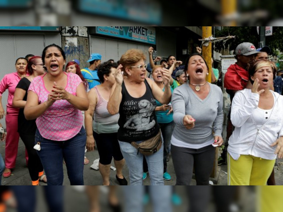
[[29, 175], [31, 176], [32, 181], [38, 180], [38, 172], [43, 171], [43, 166], [41, 164], [41, 161], [37, 155], [37, 150], [33, 148], [35, 145], [35, 134], [29, 135], [25, 133], [19, 133], [20, 137], [25, 144], [25, 148], [27, 149], [27, 153], [29, 155], [29, 161], [28, 161], [28, 169], [29, 169]]

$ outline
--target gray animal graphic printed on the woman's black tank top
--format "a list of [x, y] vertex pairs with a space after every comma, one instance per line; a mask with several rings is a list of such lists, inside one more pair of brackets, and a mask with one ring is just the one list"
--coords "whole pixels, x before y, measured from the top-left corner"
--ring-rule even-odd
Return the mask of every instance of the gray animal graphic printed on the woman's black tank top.
[[[136, 129], [136, 131], [149, 130], [155, 126], [155, 120], [151, 120], [155, 107], [146, 99], [142, 99], [138, 103], [139, 111], [131, 116], [124, 124], [125, 128]], [[128, 127], [127, 127], [128, 126]]]

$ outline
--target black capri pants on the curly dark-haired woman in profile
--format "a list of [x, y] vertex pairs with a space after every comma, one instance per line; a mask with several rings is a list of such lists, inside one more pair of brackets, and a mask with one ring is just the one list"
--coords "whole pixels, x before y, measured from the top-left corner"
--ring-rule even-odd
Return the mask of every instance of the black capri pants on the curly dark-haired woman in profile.
[[97, 134], [94, 132], [93, 135], [99, 154], [99, 162], [102, 165], [109, 165], [112, 157], [115, 161], [121, 161], [124, 158], [120, 150], [117, 133]]

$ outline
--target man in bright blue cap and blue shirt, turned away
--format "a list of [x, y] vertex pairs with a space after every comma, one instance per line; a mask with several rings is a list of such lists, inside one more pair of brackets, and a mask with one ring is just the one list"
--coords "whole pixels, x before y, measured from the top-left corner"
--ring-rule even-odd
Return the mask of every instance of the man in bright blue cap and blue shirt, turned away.
[[93, 53], [90, 55], [89, 60], [89, 67], [81, 69], [83, 78], [87, 81], [89, 85], [89, 89], [93, 88], [96, 85], [100, 84], [100, 80], [97, 76], [97, 66], [101, 62], [101, 55], [98, 53]]

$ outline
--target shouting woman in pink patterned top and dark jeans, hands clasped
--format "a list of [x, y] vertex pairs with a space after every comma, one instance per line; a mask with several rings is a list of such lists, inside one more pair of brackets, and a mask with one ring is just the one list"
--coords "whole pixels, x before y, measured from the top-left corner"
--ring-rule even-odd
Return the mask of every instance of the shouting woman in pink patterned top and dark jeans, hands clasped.
[[71, 185], [83, 185], [86, 133], [82, 110], [89, 101], [80, 77], [63, 71], [66, 56], [56, 44], [44, 48], [42, 61], [48, 71], [29, 86], [25, 118], [36, 118], [35, 144], [48, 185], [63, 185], [63, 159]]

